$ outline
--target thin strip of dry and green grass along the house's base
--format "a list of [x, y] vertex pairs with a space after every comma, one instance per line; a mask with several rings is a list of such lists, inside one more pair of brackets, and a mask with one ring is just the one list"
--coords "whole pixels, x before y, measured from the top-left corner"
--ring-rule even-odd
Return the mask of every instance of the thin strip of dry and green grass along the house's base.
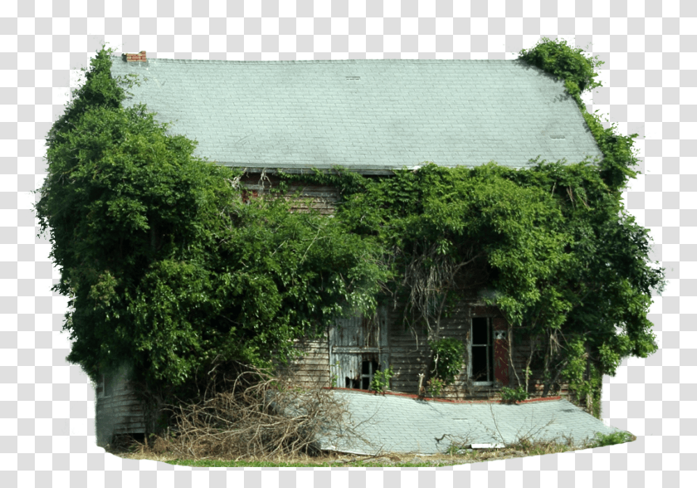
[[568, 452], [579, 449], [598, 448], [605, 445], [613, 445], [635, 441], [636, 436], [629, 432], [615, 432], [613, 434], [597, 433], [595, 438], [588, 443], [575, 445], [571, 439], [566, 443], [528, 441], [507, 445], [501, 449], [465, 449], [461, 445], [451, 445], [448, 452], [438, 455], [419, 455], [415, 453], [401, 454], [390, 453], [378, 456], [347, 455], [339, 452], [323, 451], [318, 457], [294, 457], [293, 459], [276, 459], [273, 461], [262, 459], [178, 459], [167, 453], [155, 454], [140, 443], [132, 443], [127, 450], [112, 452], [114, 455], [126, 459], [151, 459], [153, 461], [176, 464], [178, 466], [195, 466], [203, 468], [231, 468], [231, 467], [434, 467], [452, 466], [455, 464], [470, 464], [476, 462], [495, 461], [497, 459], [510, 459], [514, 457], [529, 457], [557, 452]]

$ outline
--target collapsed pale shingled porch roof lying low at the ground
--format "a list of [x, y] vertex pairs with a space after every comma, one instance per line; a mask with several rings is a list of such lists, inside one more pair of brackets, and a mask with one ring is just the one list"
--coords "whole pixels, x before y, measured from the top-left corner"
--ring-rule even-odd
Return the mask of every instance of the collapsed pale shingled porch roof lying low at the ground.
[[605, 425], [565, 399], [517, 405], [426, 402], [355, 390], [333, 390], [346, 402], [349, 420], [328, 427], [317, 437], [321, 448], [374, 455], [377, 452], [445, 452], [451, 443], [514, 444], [572, 440], [576, 446], [596, 433], [620, 429]]

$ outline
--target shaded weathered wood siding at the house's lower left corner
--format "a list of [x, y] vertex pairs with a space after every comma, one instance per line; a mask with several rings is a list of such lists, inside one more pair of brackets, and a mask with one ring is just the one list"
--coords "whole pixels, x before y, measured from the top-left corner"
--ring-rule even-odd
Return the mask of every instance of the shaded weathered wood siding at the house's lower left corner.
[[[135, 388], [128, 381], [128, 369], [107, 376], [97, 383], [95, 425], [97, 445], [111, 442], [114, 434], [144, 434], [145, 420], [141, 402]], [[111, 385], [109, 385], [111, 382]], [[106, 386], [106, 391], [105, 391]]]

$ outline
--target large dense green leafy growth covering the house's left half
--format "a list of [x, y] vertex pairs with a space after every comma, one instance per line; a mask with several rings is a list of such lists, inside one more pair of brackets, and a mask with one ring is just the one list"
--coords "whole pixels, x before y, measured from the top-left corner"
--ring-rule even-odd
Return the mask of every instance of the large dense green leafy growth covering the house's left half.
[[370, 241], [284, 199], [243, 204], [238, 173], [122, 107], [110, 52], [49, 132], [36, 204], [74, 309], [68, 361], [93, 381], [127, 363], [164, 400], [215, 365], [282, 362], [293, 339], [374, 307], [387, 275]]

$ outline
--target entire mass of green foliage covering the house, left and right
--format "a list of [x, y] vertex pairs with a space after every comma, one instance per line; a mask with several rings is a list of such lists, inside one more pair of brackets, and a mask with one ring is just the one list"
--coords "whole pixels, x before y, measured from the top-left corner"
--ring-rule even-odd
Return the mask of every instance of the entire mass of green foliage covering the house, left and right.
[[[109, 53], [98, 52], [49, 132], [36, 204], [61, 268], [54, 289], [74, 309], [68, 360], [93, 381], [127, 362], [158, 398], [183, 395], [227, 362], [284, 360], [293, 339], [338, 314], [370, 312], [389, 293], [439, 351], [441, 318], [484, 285], [513, 337], [537, 341], [530, 364], [548, 385], [566, 379], [597, 395], [597, 378], [622, 358], [657, 349], [646, 313], [663, 273], [620, 200], [636, 175], [636, 135], [613, 135], [585, 107], [599, 168], [428, 164], [377, 179], [318, 171], [302, 178], [342, 195], [335, 218], [322, 218], [291, 213], [274, 191], [243, 204], [238, 172], [195, 158], [195, 143], [167, 135], [143, 105], [123, 107], [128, 82], [112, 79]], [[598, 86], [592, 62], [565, 43], [521, 58], [564, 77], [579, 103]], [[446, 352], [434, 380], [452, 379]]]

